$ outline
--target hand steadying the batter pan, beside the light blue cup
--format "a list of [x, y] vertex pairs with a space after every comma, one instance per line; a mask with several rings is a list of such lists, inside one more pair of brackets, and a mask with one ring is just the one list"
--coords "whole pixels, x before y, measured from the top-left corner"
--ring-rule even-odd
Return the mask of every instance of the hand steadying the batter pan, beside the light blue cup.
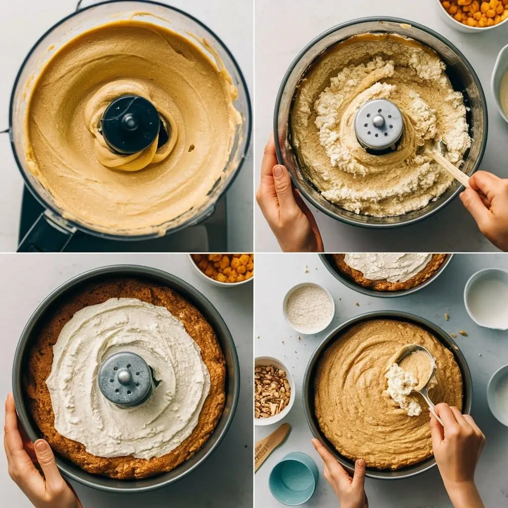
[[312, 439], [316, 452], [324, 463], [325, 478], [337, 496], [340, 508], [369, 508], [365, 495], [365, 461], [357, 460], [353, 478], [335, 460], [335, 457], [317, 439]]

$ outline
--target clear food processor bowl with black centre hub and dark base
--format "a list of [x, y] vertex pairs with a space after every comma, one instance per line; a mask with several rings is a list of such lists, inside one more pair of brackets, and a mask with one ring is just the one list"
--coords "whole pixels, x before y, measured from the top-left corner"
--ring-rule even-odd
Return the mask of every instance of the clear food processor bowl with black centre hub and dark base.
[[[29, 171], [25, 160], [27, 139], [24, 132], [24, 118], [30, 94], [29, 85], [51, 59], [55, 48], [60, 48], [85, 31], [104, 25], [112, 19], [115, 21], [132, 19], [133, 13], [136, 13], [136, 20], [169, 28], [193, 44], [196, 44], [198, 39], [206, 41], [206, 47], [202, 46], [200, 49], [211, 61], [218, 63], [219, 68], [219, 60], [224, 63], [233, 84], [238, 89], [238, 98], [234, 106], [242, 117], [242, 123], [235, 131], [229, 159], [220, 178], [208, 193], [208, 200], [203, 205], [191, 208], [167, 223], [161, 224], [157, 227], [158, 231], [149, 234], [136, 231], [100, 231], [91, 224], [67, 218], [66, 210], [56, 204], [48, 190]], [[114, 104], [115, 101], [113, 101], [105, 112], [102, 122], [105, 140], [115, 152], [134, 153], [133, 150], [148, 146], [149, 141], [153, 142], [157, 135], [159, 143], [167, 139], [170, 135], [170, 126], [162, 121], [158, 122], [158, 118], [155, 117], [156, 111], [150, 108], [151, 104], [148, 101], [140, 97], [127, 98], [125, 101], [127, 102], [124, 104]], [[118, 111], [121, 114], [118, 114]], [[85, 238], [90, 238], [87, 235], [103, 241], [130, 240], [138, 245], [140, 241], [145, 240], [157, 242], [158, 238], [160, 243], [162, 236], [203, 224], [206, 219], [212, 217], [216, 207], [221, 203], [219, 200], [224, 197], [238, 174], [246, 157], [250, 133], [251, 106], [243, 75], [230, 50], [207, 26], [179, 9], [152, 0], [107, 0], [84, 8], [81, 8], [79, 2], [76, 12], [51, 27], [28, 52], [16, 77], [11, 95], [9, 135], [14, 158], [26, 188], [42, 206], [42, 209], [36, 207], [40, 213], [34, 224], [24, 225], [23, 233], [25, 234], [20, 241], [18, 251], [61, 251], [74, 236], [81, 236], [81, 244], [83, 244]], [[23, 201], [25, 198], [28, 199], [27, 194]], [[221, 215], [224, 217], [224, 210], [221, 211]], [[222, 226], [225, 226], [225, 219]], [[125, 245], [125, 242], [123, 244]], [[74, 248], [76, 249], [78, 247]], [[109, 242], [103, 250], [112, 249]], [[131, 249], [125, 245], [122, 250]], [[136, 247], [135, 250], [143, 249]]]

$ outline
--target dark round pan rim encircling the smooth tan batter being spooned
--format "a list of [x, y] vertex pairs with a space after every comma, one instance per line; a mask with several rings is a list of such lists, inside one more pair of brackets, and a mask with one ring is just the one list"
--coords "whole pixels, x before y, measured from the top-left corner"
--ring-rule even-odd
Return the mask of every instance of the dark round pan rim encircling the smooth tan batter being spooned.
[[[315, 371], [317, 369], [317, 365], [319, 364], [319, 361], [321, 360], [323, 353], [326, 351], [327, 347], [335, 340], [337, 335], [341, 335], [346, 330], [348, 330], [349, 328], [358, 323], [363, 323], [365, 321], [374, 319], [390, 319], [413, 323], [427, 330], [434, 337], [436, 337], [444, 346], [446, 346], [446, 348], [453, 353], [455, 361], [459, 365], [460, 371], [462, 373], [462, 384], [464, 393], [462, 401], [462, 412], [463, 414], [468, 415], [471, 412], [472, 396], [473, 396], [471, 373], [469, 372], [469, 367], [467, 366], [467, 362], [466, 359], [464, 358], [464, 355], [459, 350], [457, 344], [451, 339], [451, 337], [446, 332], [441, 330], [441, 328], [434, 325], [430, 321], [423, 319], [423, 317], [419, 317], [414, 314], [409, 314], [408, 312], [400, 312], [396, 310], [382, 310], [368, 312], [366, 314], [361, 314], [356, 317], [353, 317], [353, 319], [350, 319], [345, 323], [339, 325], [333, 332], [331, 332], [323, 340], [323, 342], [321, 342], [319, 346], [317, 346], [316, 350], [314, 351], [312, 357], [309, 360], [307, 369], [305, 371], [305, 376], [303, 379], [303, 409], [311, 433], [314, 435], [314, 437], [320, 439], [324, 443], [328, 451], [334, 455], [334, 457], [340, 462], [342, 466], [350, 470], [355, 469], [355, 463], [352, 460], [343, 457], [337, 452], [337, 450], [335, 450], [333, 444], [330, 443], [330, 441], [325, 437], [325, 435], [320, 429], [319, 424], [317, 423], [314, 409], [314, 376]], [[420, 474], [424, 471], [431, 469], [435, 465], [436, 461], [432, 456], [422, 462], [419, 462], [418, 464], [402, 467], [395, 471], [392, 471], [390, 469], [376, 469], [372, 467], [367, 467], [366, 475], [369, 478], [374, 478], [376, 480], [398, 480], [401, 478], [409, 478], [417, 474]]]

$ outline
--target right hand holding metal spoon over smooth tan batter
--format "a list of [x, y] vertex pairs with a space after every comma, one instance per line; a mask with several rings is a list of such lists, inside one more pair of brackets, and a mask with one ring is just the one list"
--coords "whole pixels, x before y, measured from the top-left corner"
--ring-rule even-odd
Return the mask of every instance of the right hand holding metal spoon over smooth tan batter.
[[485, 436], [472, 417], [461, 415], [456, 407], [441, 403], [435, 410], [443, 426], [430, 415], [432, 449], [444, 487], [454, 506], [482, 508], [482, 499], [474, 484], [474, 470], [485, 445]]

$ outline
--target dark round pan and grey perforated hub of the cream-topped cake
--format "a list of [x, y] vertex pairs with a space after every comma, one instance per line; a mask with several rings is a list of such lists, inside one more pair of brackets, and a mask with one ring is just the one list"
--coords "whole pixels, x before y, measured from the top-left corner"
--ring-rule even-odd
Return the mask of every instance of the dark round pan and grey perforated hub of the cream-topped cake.
[[[213, 328], [226, 361], [226, 404], [217, 426], [203, 447], [189, 459], [173, 470], [139, 480], [117, 480], [91, 474], [79, 466], [56, 454], [56, 464], [67, 478], [88, 487], [120, 493], [146, 492], [174, 483], [201, 465], [218, 447], [233, 421], [240, 393], [240, 366], [233, 337], [213, 304], [196, 288], [184, 280], [152, 267], [138, 265], [115, 265], [95, 268], [73, 277], [56, 288], [37, 307], [26, 324], [16, 348], [12, 370], [12, 386], [16, 410], [23, 429], [34, 442], [41, 432], [33, 420], [30, 404], [24, 389], [24, 379], [28, 369], [30, 346], [35, 340], [40, 326], [55, 307], [65, 303], [69, 295], [92, 283], [118, 278], [138, 278], [158, 285], [164, 285], [176, 291], [194, 305]], [[129, 416], [129, 407], [142, 404], [157, 389], [158, 380], [154, 377], [150, 365], [141, 356], [131, 351], [117, 351], [105, 358], [95, 373], [99, 386], [99, 395], [111, 403], [125, 408], [125, 417]], [[139, 385], [139, 386], [138, 386]]]

